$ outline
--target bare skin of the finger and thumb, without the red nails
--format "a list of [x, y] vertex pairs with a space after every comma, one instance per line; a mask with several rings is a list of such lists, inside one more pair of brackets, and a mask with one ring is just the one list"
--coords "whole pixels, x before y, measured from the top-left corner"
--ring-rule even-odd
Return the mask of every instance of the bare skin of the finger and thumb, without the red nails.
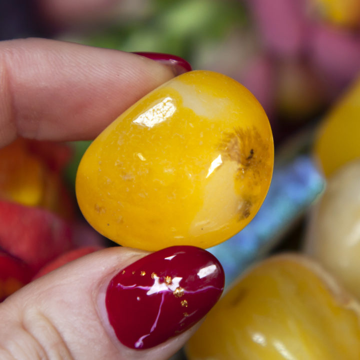
[[[44, 39], [0, 43], [0, 146], [17, 136], [94, 138], [137, 99], [174, 76], [131, 53]], [[0, 303], [0, 358], [166, 359], [191, 328], [148, 350], [122, 345], [108, 323], [104, 291], [147, 252], [107, 248], [75, 260]]]

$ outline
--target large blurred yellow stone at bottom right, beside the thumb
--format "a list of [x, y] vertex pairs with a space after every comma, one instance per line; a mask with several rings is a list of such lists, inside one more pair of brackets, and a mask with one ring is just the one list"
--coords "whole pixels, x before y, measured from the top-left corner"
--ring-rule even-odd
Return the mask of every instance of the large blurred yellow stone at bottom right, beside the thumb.
[[358, 360], [359, 304], [300, 255], [265, 260], [190, 338], [189, 360]]

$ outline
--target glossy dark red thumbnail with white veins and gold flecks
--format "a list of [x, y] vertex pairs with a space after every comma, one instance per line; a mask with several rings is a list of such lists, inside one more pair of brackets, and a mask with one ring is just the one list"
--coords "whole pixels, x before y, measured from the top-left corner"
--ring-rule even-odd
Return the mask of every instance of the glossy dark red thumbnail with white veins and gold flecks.
[[218, 260], [194, 246], [153, 252], [121, 270], [106, 290], [119, 341], [146, 349], [187, 330], [215, 304], [224, 286]]

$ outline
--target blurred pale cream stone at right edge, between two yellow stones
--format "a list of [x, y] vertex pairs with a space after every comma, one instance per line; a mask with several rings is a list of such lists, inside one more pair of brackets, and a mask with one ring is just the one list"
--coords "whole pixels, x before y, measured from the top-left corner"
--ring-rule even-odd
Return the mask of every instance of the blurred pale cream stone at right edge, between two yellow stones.
[[360, 159], [336, 171], [310, 212], [305, 251], [360, 299]]

